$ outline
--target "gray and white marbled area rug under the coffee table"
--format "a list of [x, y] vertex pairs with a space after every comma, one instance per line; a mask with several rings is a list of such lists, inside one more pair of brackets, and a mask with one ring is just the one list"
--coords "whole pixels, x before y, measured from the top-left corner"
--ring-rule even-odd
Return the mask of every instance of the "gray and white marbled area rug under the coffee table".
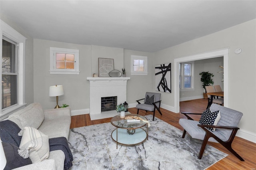
[[72, 128], [68, 143], [74, 160], [72, 170], [204, 170], [228, 156], [207, 145], [202, 159], [197, 158], [202, 140], [152, 115], [148, 140], [136, 146], [118, 144], [112, 139], [111, 123]]

